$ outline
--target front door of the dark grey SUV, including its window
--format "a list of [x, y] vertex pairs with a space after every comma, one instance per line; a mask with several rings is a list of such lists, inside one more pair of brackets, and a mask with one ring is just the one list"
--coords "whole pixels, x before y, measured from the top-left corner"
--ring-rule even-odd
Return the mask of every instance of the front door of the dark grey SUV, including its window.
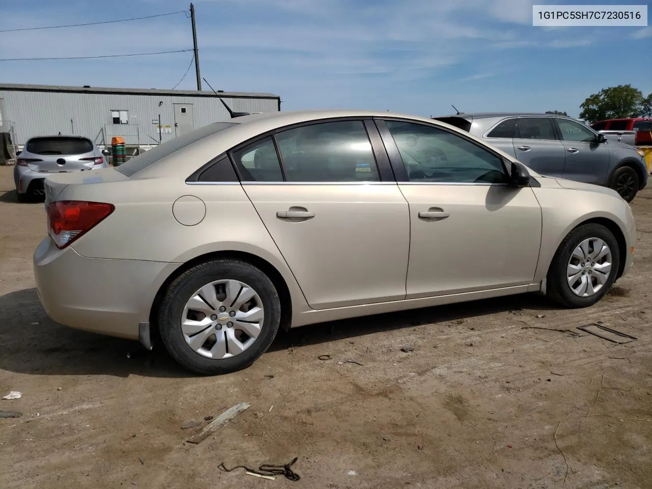
[[563, 177], [584, 183], [605, 185], [609, 171], [608, 143], [597, 143], [587, 126], [568, 119], [554, 119], [566, 153]]

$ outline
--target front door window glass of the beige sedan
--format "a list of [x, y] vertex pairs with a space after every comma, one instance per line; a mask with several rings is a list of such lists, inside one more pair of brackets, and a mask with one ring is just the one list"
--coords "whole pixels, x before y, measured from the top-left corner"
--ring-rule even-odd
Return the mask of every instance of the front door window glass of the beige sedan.
[[402, 121], [385, 121], [398, 147], [409, 181], [503, 183], [501, 158], [457, 134]]

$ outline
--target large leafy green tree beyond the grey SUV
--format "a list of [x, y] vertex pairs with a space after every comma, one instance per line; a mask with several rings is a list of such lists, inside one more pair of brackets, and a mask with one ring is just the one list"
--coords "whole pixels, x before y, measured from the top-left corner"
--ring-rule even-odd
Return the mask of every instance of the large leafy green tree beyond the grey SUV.
[[580, 119], [594, 123], [604, 119], [638, 117], [643, 110], [643, 93], [632, 85], [618, 85], [588, 96], [580, 108]]

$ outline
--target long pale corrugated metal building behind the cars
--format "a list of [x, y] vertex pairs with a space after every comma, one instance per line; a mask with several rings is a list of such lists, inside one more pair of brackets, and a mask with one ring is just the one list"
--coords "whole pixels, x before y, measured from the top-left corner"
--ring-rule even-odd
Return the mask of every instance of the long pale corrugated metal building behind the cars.
[[[192, 130], [230, 119], [234, 112], [275, 112], [280, 96], [239, 93], [50, 85], [0, 84], [0, 132], [22, 147], [33, 136], [75, 134], [111, 144], [150, 146]], [[159, 122], [160, 121], [160, 122]]]

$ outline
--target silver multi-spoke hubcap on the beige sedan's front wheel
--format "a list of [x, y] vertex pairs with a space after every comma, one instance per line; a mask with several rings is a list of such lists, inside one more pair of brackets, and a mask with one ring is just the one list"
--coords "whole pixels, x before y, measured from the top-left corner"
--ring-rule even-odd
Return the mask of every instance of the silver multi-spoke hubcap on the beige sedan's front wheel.
[[591, 297], [604, 287], [612, 271], [612, 252], [600, 238], [588, 238], [573, 250], [566, 268], [572, 292]]

